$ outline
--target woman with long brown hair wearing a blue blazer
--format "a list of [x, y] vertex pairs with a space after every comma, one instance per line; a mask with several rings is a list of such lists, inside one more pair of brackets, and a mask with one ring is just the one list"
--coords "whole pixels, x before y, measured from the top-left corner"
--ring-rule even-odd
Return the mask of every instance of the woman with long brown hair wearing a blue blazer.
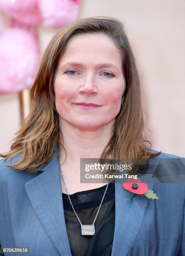
[[185, 255], [184, 184], [148, 184], [159, 200], [136, 195], [128, 207], [123, 182], [80, 183], [81, 158], [177, 158], [145, 145], [122, 23], [91, 17], [61, 29], [30, 93], [30, 113], [1, 154], [1, 246], [32, 256]]

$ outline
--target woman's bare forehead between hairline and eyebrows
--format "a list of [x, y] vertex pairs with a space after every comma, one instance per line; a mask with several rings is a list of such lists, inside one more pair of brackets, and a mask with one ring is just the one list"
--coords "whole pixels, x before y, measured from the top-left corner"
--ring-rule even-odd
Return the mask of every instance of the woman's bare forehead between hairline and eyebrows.
[[68, 61], [84, 61], [94, 63], [111, 61], [117, 66], [122, 65], [119, 49], [114, 42], [102, 33], [85, 33], [72, 36], [66, 45], [60, 64]]

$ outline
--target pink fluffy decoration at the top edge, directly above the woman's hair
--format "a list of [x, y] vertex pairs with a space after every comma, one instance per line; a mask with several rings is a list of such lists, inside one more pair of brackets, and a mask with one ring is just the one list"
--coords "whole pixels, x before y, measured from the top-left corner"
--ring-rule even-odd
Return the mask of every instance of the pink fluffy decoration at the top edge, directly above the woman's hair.
[[61, 28], [78, 18], [79, 0], [39, 0], [43, 26]]

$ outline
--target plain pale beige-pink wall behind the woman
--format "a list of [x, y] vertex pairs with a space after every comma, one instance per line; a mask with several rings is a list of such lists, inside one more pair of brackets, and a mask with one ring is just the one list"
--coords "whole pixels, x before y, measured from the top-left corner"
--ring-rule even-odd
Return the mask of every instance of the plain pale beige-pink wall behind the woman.
[[[185, 157], [184, 10], [184, 0], [83, 0], [79, 18], [106, 15], [123, 21], [141, 77], [152, 148]], [[54, 33], [39, 29], [41, 53]], [[0, 95], [0, 152], [8, 150], [18, 129], [18, 107], [17, 94]]]

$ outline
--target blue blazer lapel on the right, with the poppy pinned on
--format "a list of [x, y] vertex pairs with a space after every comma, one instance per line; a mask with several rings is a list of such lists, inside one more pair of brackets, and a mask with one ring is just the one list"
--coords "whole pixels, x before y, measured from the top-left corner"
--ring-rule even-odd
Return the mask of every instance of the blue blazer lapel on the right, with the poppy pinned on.
[[[123, 188], [125, 180], [123, 179], [122, 183], [115, 181], [115, 228], [112, 256], [126, 256], [129, 253], [142, 225], [149, 201], [145, 196], [134, 195], [132, 205], [129, 207], [132, 193]], [[147, 183], [147, 185], [148, 189], [152, 190], [153, 184]]]

